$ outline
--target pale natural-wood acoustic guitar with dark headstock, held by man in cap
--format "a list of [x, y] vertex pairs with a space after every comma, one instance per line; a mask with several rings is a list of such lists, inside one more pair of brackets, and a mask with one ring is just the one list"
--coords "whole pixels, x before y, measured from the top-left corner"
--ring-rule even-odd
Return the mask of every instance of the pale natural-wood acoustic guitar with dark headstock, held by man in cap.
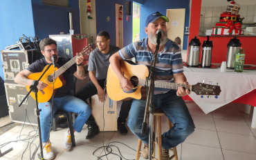
[[[120, 101], [127, 98], [145, 99], [146, 98], [146, 79], [149, 70], [145, 65], [133, 65], [127, 61], [120, 61], [121, 72], [127, 79], [131, 81], [134, 88], [129, 92], [122, 90], [121, 84], [115, 72], [113, 72], [111, 65], [107, 72], [107, 94], [113, 101]], [[188, 88], [198, 95], [219, 95], [221, 88], [205, 83], [196, 83], [195, 85], [185, 85], [181, 83], [170, 83], [166, 81], [155, 81], [156, 88], [168, 88], [176, 90], [179, 86]]]

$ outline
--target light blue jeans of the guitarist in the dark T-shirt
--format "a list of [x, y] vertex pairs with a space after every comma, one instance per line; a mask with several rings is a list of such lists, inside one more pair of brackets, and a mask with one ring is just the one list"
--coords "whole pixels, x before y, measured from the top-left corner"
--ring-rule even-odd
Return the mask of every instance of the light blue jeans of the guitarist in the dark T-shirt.
[[52, 101], [50, 100], [45, 103], [39, 103], [38, 107], [39, 109], [42, 109], [40, 112], [40, 125], [43, 143], [48, 141], [50, 138], [51, 121], [57, 110], [61, 109], [78, 114], [75, 122], [73, 123], [73, 128], [76, 132], [81, 132], [84, 123], [91, 115], [91, 108], [84, 101], [73, 96], [54, 98], [53, 112], [51, 112], [51, 104]]

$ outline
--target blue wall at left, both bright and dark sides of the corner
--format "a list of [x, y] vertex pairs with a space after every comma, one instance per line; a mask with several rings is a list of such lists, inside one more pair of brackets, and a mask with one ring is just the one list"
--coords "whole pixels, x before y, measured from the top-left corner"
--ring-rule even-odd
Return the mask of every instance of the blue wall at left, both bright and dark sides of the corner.
[[[49, 34], [69, 32], [69, 15], [72, 12], [73, 30], [80, 33], [78, 0], [69, 0], [69, 7], [42, 4], [42, 0], [1, 0], [0, 3], [0, 50], [15, 44], [25, 34], [39, 39]], [[0, 57], [0, 77], [3, 77]]]

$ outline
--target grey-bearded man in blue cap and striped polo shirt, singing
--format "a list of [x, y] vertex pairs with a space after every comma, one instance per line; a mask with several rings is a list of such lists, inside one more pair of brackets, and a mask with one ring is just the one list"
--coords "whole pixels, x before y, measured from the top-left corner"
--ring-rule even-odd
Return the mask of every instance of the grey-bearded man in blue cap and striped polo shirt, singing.
[[[147, 37], [129, 44], [113, 54], [110, 58], [111, 67], [116, 73], [123, 90], [128, 92], [134, 86], [120, 71], [120, 61], [135, 57], [136, 63], [151, 66], [152, 58], [156, 51], [158, 32], [162, 32], [162, 36], [160, 37], [159, 50], [156, 53], [158, 54], [156, 61], [156, 80], [187, 83], [186, 77], [183, 74], [181, 48], [174, 41], [167, 39], [166, 22], [168, 21], [169, 19], [159, 12], [150, 14], [145, 22]], [[194, 122], [185, 102], [181, 98], [188, 94], [190, 94], [190, 90], [184, 90], [182, 87], [179, 87], [177, 90], [154, 88], [154, 108], [164, 112], [173, 124], [170, 130], [162, 134], [163, 160], [169, 159], [170, 148], [176, 147], [179, 143], [185, 141], [188, 135], [194, 132]], [[127, 124], [131, 132], [143, 140], [143, 157], [144, 159], [148, 159], [149, 128], [147, 128], [147, 134], [145, 136], [141, 134], [145, 106], [145, 100], [134, 99], [131, 104]]]

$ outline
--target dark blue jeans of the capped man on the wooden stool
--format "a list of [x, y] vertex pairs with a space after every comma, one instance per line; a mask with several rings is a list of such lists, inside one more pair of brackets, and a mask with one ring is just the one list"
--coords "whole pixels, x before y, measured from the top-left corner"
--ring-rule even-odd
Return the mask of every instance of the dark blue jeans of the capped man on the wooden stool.
[[[145, 100], [134, 99], [129, 113], [128, 126], [136, 136], [149, 143], [149, 127], [145, 136], [141, 135], [141, 128], [145, 114]], [[194, 132], [194, 122], [190, 112], [181, 97], [176, 95], [176, 91], [171, 90], [165, 94], [154, 95], [154, 108], [160, 109], [172, 122], [173, 127], [162, 134], [162, 146], [170, 149], [185, 141]]]

